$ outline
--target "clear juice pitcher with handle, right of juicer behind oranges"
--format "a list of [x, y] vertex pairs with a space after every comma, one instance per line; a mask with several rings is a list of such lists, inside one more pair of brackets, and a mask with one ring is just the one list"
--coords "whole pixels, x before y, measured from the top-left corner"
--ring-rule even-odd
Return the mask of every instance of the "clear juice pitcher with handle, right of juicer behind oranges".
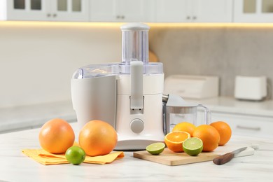
[[[182, 122], [193, 123], [193, 125], [209, 125], [211, 114], [207, 107], [202, 104], [190, 104], [176, 95], [163, 96], [163, 112], [165, 113], [165, 134], [172, 132], [175, 125]], [[197, 119], [198, 109], [204, 110], [204, 118]]]

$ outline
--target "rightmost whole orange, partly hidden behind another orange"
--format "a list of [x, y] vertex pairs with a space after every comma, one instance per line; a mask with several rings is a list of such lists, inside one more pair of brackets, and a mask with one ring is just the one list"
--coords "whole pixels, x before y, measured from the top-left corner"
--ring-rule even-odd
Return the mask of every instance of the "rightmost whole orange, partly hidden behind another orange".
[[213, 126], [220, 134], [219, 146], [223, 146], [227, 144], [228, 141], [230, 141], [232, 131], [228, 123], [225, 123], [223, 121], [216, 121], [214, 123], [211, 123], [211, 126]]

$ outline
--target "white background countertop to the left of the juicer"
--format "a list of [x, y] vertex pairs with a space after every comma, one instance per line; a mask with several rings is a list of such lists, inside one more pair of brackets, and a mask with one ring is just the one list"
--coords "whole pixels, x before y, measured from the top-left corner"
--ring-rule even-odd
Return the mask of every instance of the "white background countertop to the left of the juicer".
[[0, 133], [40, 127], [52, 118], [76, 122], [71, 101], [0, 109]]

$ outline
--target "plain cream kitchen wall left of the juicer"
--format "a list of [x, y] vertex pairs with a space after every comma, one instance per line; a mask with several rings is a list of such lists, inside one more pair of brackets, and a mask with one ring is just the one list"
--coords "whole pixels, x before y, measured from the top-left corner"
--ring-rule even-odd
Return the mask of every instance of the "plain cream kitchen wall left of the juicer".
[[119, 25], [0, 22], [0, 108], [66, 101], [80, 66], [120, 62]]

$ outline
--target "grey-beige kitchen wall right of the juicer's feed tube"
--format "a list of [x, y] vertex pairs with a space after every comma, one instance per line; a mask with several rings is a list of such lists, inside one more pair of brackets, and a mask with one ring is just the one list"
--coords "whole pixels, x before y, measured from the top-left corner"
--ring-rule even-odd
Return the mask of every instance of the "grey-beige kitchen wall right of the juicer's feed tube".
[[219, 76], [220, 94], [233, 96], [235, 76], [273, 80], [272, 25], [155, 27], [150, 48], [171, 74]]

